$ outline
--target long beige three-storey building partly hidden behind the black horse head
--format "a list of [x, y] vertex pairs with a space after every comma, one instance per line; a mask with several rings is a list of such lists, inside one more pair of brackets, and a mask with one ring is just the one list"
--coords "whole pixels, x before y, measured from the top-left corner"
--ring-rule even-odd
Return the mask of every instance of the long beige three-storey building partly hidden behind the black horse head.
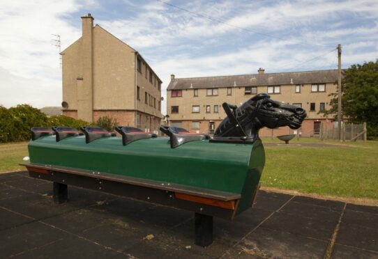
[[[333, 119], [318, 114], [330, 108], [330, 93], [337, 91], [338, 70], [242, 74], [222, 77], [176, 79], [174, 74], [167, 87], [167, 115], [170, 125], [190, 132], [213, 133], [225, 118], [222, 103], [240, 106], [257, 93], [269, 93], [271, 99], [294, 104], [307, 111], [298, 134], [319, 134], [320, 123], [328, 128]], [[289, 127], [275, 130], [263, 128], [260, 136], [295, 134]]]

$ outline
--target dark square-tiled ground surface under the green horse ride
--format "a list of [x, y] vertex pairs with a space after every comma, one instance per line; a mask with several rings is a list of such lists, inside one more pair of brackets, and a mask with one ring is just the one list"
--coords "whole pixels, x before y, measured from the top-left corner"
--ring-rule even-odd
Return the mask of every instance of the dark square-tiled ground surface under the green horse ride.
[[378, 207], [260, 191], [214, 242], [193, 244], [194, 213], [0, 174], [1, 258], [378, 258]]

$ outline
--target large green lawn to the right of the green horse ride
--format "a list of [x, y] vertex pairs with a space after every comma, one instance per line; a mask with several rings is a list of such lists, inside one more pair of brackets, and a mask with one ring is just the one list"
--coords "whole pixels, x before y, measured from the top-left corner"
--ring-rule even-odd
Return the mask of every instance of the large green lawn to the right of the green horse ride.
[[[278, 142], [263, 139], [263, 143]], [[266, 146], [262, 186], [354, 198], [378, 199], [378, 141], [300, 139], [290, 143], [329, 143], [331, 147]]]

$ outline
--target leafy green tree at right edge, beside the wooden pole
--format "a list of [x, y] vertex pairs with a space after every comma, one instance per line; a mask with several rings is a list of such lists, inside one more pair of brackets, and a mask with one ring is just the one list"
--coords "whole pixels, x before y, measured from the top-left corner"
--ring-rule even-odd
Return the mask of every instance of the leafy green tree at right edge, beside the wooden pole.
[[[337, 93], [332, 94], [331, 109], [337, 114]], [[368, 139], [378, 138], [378, 60], [351, 65], [342, 79], [342, 113], [351, 123], [367, 123]], [[337, 118], [337, 115], [336, 117]]]

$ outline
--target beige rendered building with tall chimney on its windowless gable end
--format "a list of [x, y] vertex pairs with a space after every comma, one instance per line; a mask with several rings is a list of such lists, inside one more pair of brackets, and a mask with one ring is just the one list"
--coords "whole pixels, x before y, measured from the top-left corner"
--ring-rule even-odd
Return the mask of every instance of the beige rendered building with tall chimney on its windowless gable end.
[[82, 37], [61, 52], [63, 115], [158, 130], [162, 81], [132, 47], [82, 17]]

